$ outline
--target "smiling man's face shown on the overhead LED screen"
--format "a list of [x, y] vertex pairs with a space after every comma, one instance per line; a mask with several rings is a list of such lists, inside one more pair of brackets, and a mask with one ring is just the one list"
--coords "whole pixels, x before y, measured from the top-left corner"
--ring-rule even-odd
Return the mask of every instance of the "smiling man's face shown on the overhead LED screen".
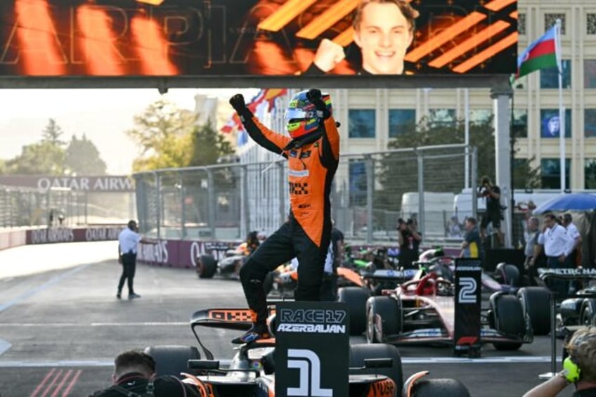
[[410, 24], [391, 3], [369, 3], [354, 41], [362, 51], [362, 67], [372, 74], [403, 73], [403, 57], [412, 43]]

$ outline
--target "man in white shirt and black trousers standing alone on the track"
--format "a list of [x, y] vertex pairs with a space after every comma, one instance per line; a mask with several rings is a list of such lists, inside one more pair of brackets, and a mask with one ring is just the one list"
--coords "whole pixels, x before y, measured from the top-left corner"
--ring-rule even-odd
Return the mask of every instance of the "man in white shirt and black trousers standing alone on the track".
[[122, 298], [122, 287], [124, 287], [125, 280], [129, 287], [129, 299], [141, 297], [134, 292], [133, 279], [136, 270], [136, 249], [142, 240], [141, 235], [137, 233], [136, 221], [129, 221], [127, 228], [124, 228], [118, 235], [118, 261], [122, 263], [122, 275], [118, 282], [117, 299]]

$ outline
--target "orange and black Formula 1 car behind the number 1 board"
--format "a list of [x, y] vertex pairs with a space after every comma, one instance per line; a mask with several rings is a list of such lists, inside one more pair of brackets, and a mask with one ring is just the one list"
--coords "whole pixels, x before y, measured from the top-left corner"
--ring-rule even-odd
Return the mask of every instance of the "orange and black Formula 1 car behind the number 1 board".
[[[268, 325], [273, 332], [274, 306], [269, 306], [269, 313]], [[193, 346], [150, 346], [145, 353], [155, 359], [157, 375], [182, 374], [183, 382], [197, 386], [204, 397], [275, 396], [274, 338], [241, 345], [229, 365], [223, 365], [202, 344], [196, 331], [198, 326], [247, 330], [251, 325], [248, 319], [250, 311], [243, 308], [194, 313], [190, 326], [205, 356], [203, 360]], [[350, 346], [349, 374], [349, 396], [398, 396], [403, 384], [399, 351], [388, 344]]]

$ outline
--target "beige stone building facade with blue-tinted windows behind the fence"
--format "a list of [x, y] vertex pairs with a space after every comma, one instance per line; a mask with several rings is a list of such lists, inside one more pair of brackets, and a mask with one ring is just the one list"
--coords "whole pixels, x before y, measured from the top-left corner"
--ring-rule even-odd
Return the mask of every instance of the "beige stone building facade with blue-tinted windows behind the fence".
[[[562, 21], [566, 188], [596, 188], [596, 1], [519, 0], [519, 53], [557, 19]], [[335, 89], [335, 117], [342, 124], [342, 153], [375, 152], [399, 134], [401, 124], [432, 116], [441, 122], [480, 122], [493, 115], [490, 89]], [[467, 99], [466, 99], [467, 97]], [[283, 100], [284, 98], [280, 98]], [[285, 98], [287, 100], [287, 98]], [[469, 107], [467, 107], [469, 103]], [[560, 188], [557, 70], [517, 80], [512, 96], [514, 162], [534, 159], [540, 188]], [[278, 107], [283, 111], [283, 105]], [[283, 129], [281, 117], [273, 115]], [[254, 158], [254, 157], [253, 157]]]

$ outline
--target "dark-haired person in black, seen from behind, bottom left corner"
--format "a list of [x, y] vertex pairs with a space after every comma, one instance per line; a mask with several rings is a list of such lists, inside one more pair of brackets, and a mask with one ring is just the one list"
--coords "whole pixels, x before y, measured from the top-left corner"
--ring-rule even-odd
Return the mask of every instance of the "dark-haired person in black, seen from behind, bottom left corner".
[[112, 386], [96, 391], [89, 397], [155, 396], [200, 397], [197, 386], [177, 377], [155, 377], [155, 360], [141, 351], [124, 351], [114, 360]]

